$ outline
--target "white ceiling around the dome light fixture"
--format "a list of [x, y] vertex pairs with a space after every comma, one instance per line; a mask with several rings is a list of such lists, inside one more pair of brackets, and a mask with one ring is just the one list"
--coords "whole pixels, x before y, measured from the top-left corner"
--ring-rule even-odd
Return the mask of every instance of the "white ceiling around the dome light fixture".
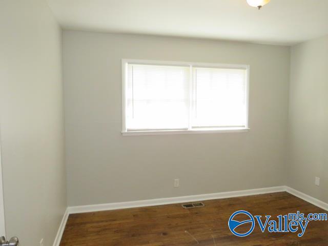
[[48, 0], [64, 29], [293, 45], [328, 34], [328, 0]]

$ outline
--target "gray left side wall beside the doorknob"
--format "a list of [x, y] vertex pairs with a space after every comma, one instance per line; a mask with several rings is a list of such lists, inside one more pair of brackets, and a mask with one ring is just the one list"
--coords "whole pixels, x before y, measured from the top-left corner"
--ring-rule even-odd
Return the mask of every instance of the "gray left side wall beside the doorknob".
[[7, 236], [52, 245], [67, 206], [61, 30], [43, 0], [0, 1]]

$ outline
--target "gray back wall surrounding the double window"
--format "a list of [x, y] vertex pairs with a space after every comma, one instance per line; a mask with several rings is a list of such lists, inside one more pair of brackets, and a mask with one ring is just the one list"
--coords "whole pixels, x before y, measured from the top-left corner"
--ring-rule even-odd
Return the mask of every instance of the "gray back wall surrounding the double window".
[[[123, 137], [122, 58], [251, 65], [250, 132]], [[283, 185], [289, 71], [289, 47], [65, 31], [69, 206]]]

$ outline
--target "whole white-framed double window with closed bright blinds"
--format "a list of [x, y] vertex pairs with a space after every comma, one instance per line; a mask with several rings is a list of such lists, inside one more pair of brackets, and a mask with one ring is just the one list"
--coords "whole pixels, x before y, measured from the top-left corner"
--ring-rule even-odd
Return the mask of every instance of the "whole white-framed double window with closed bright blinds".
[[248, 130], [247, 65], [122, 60], [122, 133]]

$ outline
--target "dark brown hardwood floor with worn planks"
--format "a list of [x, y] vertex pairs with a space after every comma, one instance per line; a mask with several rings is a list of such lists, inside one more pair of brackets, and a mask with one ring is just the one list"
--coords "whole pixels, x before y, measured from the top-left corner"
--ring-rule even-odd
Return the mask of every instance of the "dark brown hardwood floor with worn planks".
[[228, 220], [238, 210], [252, 215], [272, 215], [276, 220], [280, 214], [297, 211], [326, 213], [286, 192], [209, 200], [204, 204], [205, 207], [192, 209], [171, 204], [72, 214], [60, 246], [328, 245], [328, 221], [310, 221], [302, 237], [297, 233], [262, 233], [258, 224], [246, 237], [230, 232]]

